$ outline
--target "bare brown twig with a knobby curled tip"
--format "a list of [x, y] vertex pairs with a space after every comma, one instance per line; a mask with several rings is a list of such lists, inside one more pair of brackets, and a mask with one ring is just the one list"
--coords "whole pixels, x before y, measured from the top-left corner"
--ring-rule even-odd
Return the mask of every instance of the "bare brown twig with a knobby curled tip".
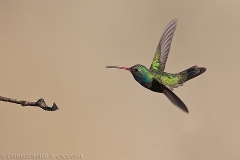
[[56, 110], [58, 110], [58, 107], [57, 107], [55, 102], [53, 103], [52, 107], [49, 107], [49, 106], [46, 105], [43, 98], [40, 98], [37, 102], [30, 102], [30, 101], [24, 101], [24, 100], [18, 100], [18, 99], [12, 99], [12, 98], [7, 98], [7, 97], [0, 96], [0, 101], [21, 104], [22, 106], [40, 107], [40, 108], [42, 108], [43, 110], [46, 110], [46, 111], [56, 111]]

